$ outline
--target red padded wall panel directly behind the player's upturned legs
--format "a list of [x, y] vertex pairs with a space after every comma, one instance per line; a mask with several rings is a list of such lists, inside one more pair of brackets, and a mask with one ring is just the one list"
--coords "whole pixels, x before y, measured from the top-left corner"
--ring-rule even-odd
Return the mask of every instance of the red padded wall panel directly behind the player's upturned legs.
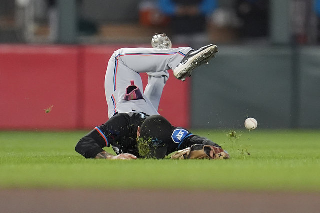
[[[133, 46], [132, 46], [133, 47]], [[110, 56], [121, 46], [83, 47], [84, 119], [86, 128], [106, 121], [107, 104], [104, 94], [104, 77]], [[171, 76], [164, 87], [159, 105], [159, 113], [173, 125], [189, 126], [189, 81], [177, 80]], [[141, 74], [144, 87], [148, 76]], [[102, 103], [102, 104], [101, 104]]]

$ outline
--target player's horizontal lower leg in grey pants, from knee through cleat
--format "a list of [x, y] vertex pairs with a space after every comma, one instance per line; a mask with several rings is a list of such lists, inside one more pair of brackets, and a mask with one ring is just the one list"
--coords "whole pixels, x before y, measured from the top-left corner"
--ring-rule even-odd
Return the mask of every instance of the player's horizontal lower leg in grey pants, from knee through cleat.
[[175, 49], [154, 48], [122, 48], [115, 53], [117, 63], [123, 63], [136, 72], [158, 72], [172, 69], [177, 79], [184, 81], [191, 76], [192, 71], [207, 63], [218, 47], [210, 44], [193, 50], [191, 47], [180, 47]]

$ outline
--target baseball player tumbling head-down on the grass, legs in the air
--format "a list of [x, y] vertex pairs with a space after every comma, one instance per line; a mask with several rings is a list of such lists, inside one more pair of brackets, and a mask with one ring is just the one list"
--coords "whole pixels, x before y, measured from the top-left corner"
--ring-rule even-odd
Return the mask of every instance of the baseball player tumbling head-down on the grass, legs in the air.
[[[156, 34], [152, 42], [155, 48], [121, 48], [111, 56], [105, 76], [109, 119], [82, 137], [75, 150], [85, 158], [104, 159], [164, 158], [177, 150], [181, 151], [173, 158], [229, 158], [218, 144], [172, 126], [157, 112], [169, 77], [167, 70], [172, 69], [174, 76], [184, 81], [196, 67], [214, 57], [217, 46], [171, 48], [164, 34]], [[142, 72], [149, 75], [144, 92], [140, 90]], [[139, 149], [139, 141], [147, 144], [147, 153]], [[102, 149], [110, 145], [116, 156]]]

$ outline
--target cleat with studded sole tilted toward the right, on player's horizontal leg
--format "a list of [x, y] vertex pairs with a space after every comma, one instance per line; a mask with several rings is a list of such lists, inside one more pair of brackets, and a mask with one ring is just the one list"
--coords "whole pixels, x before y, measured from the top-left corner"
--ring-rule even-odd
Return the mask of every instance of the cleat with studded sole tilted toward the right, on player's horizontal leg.
[[204, 63], [208, 64], [208, 61], [214, 57], [217, 51], [218, 47], [214, 44], [203, 46], [196, 51], [191, 50], [173, 70], [173, 75], [184, 81], [186, 77], [191, 76], [193, 69]]

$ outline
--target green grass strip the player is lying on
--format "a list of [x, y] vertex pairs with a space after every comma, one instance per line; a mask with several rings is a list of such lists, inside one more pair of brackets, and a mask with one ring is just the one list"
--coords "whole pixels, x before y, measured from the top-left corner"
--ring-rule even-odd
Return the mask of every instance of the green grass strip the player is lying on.
[[193, 131], [228, 160], [85, 159], [85, 133], [0, 131], [0, 188], [320, 191], [320, 130]]

